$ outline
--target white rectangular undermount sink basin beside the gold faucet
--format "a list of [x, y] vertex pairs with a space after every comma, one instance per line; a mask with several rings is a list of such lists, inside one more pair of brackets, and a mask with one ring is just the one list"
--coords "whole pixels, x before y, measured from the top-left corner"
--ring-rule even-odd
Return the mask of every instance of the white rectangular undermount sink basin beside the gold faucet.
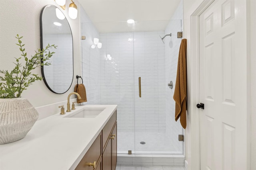
[[79, 111], [75, 111], [74, 113], [67, 115], [65, 117], [73, 117], [73, 118], [94, 118], [98, 116], [104, 109], [106, 108], [92, 108], [87, 107]]

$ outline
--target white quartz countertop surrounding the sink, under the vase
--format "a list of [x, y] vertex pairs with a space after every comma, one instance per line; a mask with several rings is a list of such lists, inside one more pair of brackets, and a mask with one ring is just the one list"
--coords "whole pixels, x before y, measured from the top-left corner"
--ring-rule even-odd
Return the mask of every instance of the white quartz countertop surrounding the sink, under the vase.
[[59, 113], [36, 121], [24, 139], [0, 145], [0, 170], [74, 170], [106, 125], [117, 105], [95, 118], [67, 118]]

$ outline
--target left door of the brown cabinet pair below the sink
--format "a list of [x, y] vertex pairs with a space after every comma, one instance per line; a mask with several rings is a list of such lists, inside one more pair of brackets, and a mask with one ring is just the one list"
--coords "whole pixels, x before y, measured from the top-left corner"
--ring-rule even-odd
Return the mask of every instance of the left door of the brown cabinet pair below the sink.
[[108, 140], [104, 153], [102, 154], [103, 170], [111, 170], [111, 139]]

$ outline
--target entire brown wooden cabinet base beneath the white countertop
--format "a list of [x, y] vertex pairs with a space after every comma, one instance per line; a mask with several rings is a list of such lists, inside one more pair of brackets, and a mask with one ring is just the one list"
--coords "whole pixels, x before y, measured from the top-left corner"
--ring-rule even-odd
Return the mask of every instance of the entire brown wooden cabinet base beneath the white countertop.
[[[95, 139], [75, 170], [115, 170], [117, 156], [116, 111]], [[95, 168], [93, 163], [95, 163]], [[89, 166], [91, 164], [91, 166]]]

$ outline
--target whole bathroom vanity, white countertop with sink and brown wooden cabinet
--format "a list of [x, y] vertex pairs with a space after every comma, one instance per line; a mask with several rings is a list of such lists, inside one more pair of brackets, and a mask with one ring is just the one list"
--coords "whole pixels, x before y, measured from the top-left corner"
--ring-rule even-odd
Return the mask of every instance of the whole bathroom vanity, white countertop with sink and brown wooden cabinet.
[[37, 121], [24, 139], [0, 145], [0, 169], [115, 170], [116, 107], [76, 106]]

